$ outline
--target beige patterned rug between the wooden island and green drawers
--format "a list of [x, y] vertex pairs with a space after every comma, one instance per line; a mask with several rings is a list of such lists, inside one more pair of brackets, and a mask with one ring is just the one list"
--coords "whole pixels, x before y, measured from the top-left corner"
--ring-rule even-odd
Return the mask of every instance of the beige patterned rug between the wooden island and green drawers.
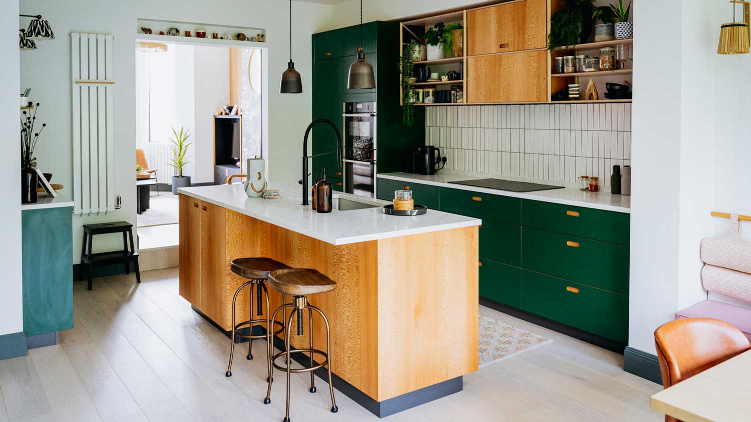
[[550, 343], [551, 339], [480, 316], [480, 367]]

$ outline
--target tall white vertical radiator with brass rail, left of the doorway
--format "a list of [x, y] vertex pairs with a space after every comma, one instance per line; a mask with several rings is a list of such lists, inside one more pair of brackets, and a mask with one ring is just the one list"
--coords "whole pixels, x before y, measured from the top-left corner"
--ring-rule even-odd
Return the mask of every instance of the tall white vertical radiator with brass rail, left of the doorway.
[[74, 214], [115, 209], [112, 42], [112, 35], [71, 34]]

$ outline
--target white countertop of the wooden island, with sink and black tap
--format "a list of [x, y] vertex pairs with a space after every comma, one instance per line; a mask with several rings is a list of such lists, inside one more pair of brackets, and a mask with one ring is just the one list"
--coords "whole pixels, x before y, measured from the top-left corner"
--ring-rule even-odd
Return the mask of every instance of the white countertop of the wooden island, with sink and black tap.
[[[351, 244], [419, 233], [438, 232], [460, 227], [478, 226], [481, 220], [428, 210], [424, 215], [397, 217], [383, 214], [382, 208], [365, 208], [351, 211], [334, 210], [317, 213], [310, 206], [301, 205], [298, 190], [280, 190], [282, 199], [249, 198], [242, 184], [179, 188], [178, 193], [210, 202], [220, 207], [246, 214], [275, 226], [298, 232], [330, 244]], [[346, 193], [334, 193], [335, 198], [351, 198], [373, 205], [391, 202], [365, 199]]]

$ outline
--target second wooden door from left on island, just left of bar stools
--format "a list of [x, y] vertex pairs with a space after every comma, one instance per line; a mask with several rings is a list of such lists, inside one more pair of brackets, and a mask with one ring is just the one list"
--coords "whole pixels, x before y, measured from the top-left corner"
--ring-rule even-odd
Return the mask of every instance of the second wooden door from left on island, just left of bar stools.
[[201, 201], [201, 306], [202, 313], [225, 330], [225, 273], [227, 265], [225, 208]]

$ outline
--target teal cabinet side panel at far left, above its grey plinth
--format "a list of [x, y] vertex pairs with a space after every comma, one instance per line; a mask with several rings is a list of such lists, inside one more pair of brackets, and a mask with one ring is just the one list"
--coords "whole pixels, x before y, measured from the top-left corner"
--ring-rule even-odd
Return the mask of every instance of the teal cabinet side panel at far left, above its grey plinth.
[[21, 209], [23, 333], [73, 328], [73, 208]]

